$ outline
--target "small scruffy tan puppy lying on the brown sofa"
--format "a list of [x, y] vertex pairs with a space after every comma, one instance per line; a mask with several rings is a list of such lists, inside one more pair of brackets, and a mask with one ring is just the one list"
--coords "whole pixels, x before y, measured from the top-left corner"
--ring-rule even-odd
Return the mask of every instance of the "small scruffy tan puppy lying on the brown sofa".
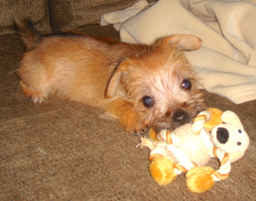
[[57, 94], [99, 107], [134, 134], [148, 127], [173, 130], [204, 109], [183, 52], [200, 48], [198, 37], [175, 35], [144, 45], [74, 33], [42, 36], [29, 20], [17, 27], [27, 47], [20, 86], [31, 101]]

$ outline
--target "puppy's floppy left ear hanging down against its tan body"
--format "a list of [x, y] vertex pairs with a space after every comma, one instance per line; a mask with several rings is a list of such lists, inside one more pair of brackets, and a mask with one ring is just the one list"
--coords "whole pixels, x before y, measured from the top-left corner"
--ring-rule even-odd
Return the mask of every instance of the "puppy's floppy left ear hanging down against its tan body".
[[115, 71], [113, 72], [113, 74], [108, 82], [108, 87], [107, 87], [106, 93], [105, 93], [106, 98], [115, 97], [121, 75], [125, 71], [127, 71], [127, 61], [120, 62], [120, 64], [116, 66]]

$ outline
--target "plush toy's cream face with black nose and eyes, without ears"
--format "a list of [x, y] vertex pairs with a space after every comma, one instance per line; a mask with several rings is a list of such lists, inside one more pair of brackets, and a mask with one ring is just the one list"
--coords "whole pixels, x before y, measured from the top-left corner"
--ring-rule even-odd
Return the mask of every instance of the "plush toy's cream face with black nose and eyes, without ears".
[[243, 129], [230, 124], [219, 124], [212, 130], [213, 142], [216, 147], [227, 153], [245, 151], [249, 146], [249, 136]]

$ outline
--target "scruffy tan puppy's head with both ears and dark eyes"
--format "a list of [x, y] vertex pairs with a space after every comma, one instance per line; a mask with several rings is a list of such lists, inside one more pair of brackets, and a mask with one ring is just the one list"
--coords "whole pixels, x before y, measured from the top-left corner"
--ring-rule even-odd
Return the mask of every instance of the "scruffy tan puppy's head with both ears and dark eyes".
[[183, 51], [201, 47], [201, 39], [176, 35], [160, 39], [140, 56], [128, 58], [116, 69], [107, 96], [114, 97], [119, 83], [130, 107], [156, 130], [193, 121], [204, 108], [196, 74]]

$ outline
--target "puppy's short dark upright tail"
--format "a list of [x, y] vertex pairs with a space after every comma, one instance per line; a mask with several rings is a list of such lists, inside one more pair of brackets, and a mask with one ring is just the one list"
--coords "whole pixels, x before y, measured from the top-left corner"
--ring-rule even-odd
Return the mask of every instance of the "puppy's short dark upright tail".
[[28, 50], [31, 49], [36, 40], [40, 38], [40, 33], [35, 28], [31, 19], [15, 20], [14, 26]]

